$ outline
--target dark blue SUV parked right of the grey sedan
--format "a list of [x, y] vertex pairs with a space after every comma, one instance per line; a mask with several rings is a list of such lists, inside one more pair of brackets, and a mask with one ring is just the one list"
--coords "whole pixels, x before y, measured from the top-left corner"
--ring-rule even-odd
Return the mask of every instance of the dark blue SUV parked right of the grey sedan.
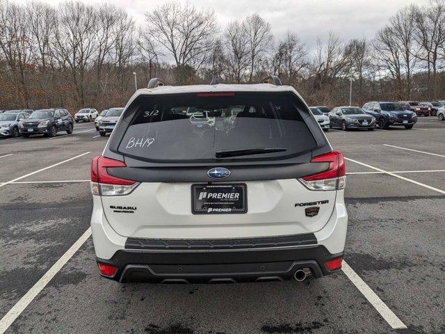
[[379, 129], [387, 129], [391, 125], [412, 129], [417, 122], [417, 114], [414, 111], [406, 110], [396, 102], [367, 102], [362, 109], [374, 116]]

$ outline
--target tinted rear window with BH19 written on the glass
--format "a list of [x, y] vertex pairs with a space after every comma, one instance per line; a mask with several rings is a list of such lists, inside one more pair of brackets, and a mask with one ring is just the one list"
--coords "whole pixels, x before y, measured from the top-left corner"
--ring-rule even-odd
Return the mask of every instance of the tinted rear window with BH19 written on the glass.
[[300, 154], [315, 148], [316, 141], [296, 103], [290, 94], [140, 97], [130, 107], [136, 113], [118, 150], [156, 161], [278, 159]]

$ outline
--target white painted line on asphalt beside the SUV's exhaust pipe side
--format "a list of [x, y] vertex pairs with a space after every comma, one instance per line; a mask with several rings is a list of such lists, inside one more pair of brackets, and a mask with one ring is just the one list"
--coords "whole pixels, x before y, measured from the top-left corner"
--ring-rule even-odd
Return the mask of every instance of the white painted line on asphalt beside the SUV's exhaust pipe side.
[[341, 267], [343, 273], [348, 276], [349, 280], [362, 292], [363, 296], [368, 299], [369, 303], [373, 305], [375, 310], [380, 313], [380, 315], [387, 321], [389, 326], [393, 329], [407, 328], [405, 324], [398, 319], [398, 317], [391, 311], [391, 309], [379, 298], [375, 292], [369, 287], [364, 280], [357, 275], [357, 273], [349, 267], [349, 264], [343, 261], [343, 266]]

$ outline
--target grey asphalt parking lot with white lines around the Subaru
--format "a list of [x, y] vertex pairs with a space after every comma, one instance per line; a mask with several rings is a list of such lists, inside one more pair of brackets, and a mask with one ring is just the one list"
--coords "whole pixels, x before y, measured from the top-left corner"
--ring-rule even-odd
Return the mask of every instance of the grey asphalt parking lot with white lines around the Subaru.
[[0, 139], [0, 333], [445, 333], [445, 122], [327, 137], [348, 173], [343, 271], [236, 285], [101, 278], [89, 180], [108, 137]]

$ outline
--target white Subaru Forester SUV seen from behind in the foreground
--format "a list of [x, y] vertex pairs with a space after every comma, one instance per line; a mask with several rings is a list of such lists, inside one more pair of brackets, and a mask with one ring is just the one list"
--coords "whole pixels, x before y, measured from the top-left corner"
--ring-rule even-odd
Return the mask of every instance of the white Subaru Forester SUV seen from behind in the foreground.
[[[102, 276], [233, 283], [341, 269], [343, 155], [294, 88], [265, 81], [152, 79], [131, 97], [91, 167]], [[214, 122], [193, 122], [190, 108]]]

